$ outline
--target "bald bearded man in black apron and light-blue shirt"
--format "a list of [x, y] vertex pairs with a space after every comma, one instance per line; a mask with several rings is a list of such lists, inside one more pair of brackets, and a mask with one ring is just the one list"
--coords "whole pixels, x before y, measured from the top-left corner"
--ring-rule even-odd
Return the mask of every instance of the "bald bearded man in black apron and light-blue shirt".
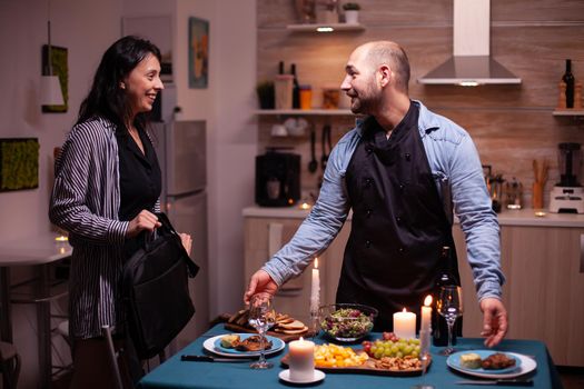
[[337, 302], [377, 308], [376, 327], [387, 330], [393, 312], [417, 310], [433, 288], [444, 266], [441, 248], [454, 246], [454, 206], [484, 315], [482, 335], [487, 347], [497, 345], [507, 331], [498, 222], [471, 137], [409, 99], [409, 62], [395, 42], [358, 47], [346, 73], [342, 89], [350, 109], [367, 118], [336, 144], [313, 211], [291, 241], [251, 276], [244, 299], [276, 293], [299, 275], [353, 208]]

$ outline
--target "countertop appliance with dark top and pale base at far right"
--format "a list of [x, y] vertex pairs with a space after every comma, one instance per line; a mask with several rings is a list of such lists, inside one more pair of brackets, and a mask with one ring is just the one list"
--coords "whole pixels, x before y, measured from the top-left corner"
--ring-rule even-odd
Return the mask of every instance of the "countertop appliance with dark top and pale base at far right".
[[550, 193], [550, 212], [584, 213], [584, 190], [578, 182], [580, 143], [558, 144], [560, 182]]

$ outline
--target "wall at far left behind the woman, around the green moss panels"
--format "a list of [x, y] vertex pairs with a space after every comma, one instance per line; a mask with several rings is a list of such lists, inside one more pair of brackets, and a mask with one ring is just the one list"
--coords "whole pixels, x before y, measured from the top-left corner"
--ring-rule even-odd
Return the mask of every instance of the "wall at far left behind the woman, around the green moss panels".
[[[0, 137], [36, 137], [40, 142], [39, 188], [0, 193], [0, 242], [48, 231], [52, 184], [52, 149], [71, 128], [101, 53], [120, 34], [117, 0], [51, 0], [52, 44], [69, 52], [69, 110], [41, 113], [38, 103], [41, 46], [47, 43], [48, 3], [41, 0], [0, 1]], [[13, 269], [13, 279], [27, 269]], [[38, 380], [37, 323], [32, 306], [13, 306], [13, 342], [22, 356], [19, 388]], [[67, 359], [67, 350], [63, 358]], [[56, 356], [57, 357], [57, 356]]]

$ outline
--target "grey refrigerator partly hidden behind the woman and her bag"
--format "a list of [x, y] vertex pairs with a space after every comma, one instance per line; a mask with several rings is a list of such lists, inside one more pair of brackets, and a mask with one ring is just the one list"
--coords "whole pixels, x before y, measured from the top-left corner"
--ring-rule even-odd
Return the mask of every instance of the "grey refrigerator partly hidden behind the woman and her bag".
[[175, 353], [209, 325], [206, 122], [156, 122], [151, 132], [162, 171], [160, 208], [178, 232], [190, 233], [191, 258], [200, 266], [197, 277], [189, 279], [195, 316], [170, 345]]

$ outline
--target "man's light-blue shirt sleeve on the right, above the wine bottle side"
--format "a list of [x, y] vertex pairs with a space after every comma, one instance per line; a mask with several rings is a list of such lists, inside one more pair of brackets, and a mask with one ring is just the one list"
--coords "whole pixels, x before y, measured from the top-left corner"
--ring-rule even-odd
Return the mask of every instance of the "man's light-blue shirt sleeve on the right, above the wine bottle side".
[[452, 154], [451, 181], [478, 300], [501, 299], [505, 278], [501, 270], [498, 220], [486, 190], [478, 152], [467, 133]]

